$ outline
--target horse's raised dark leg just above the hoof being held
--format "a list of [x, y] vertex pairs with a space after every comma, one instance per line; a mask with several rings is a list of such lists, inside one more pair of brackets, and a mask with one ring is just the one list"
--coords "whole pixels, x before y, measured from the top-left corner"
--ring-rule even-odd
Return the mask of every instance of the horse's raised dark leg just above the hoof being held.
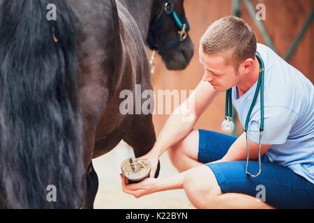
[[[130, 129], [126, 132], [124, 141], [133, 147], [135, 157], [147, 154], [153, 148], [156, 141], [156, 134], [153, 118], [149, 115], [136, 115]], [[158, 177], [160, 162], [156, 170], [155, 178]]]

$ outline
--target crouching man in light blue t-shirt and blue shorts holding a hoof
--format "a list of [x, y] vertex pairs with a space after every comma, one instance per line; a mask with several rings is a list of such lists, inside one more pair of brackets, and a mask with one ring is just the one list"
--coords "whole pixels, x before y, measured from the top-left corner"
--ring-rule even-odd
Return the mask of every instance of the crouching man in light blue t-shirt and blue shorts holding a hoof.
[[[214, 22], [202, 36], [199, 51], [204, 76], [191, 96], [195, 106], [181, 105], [190, 109], [187, 115], [193, 114], [193, 121], [172, 114], [154, 148], [142, 157], [151, 162], [154, 176], [158, 157], [167, 150], [181, 174], [133, 185], [121, 176], [124, 192], [142, 197], [183, 188], [196, 208], [314, 208], [313, 84], [269, 47], [257, 44], [252, 29], [237, 17]], [[264, 61], [263, 156], [262, 173], [249, 178], [245, 134], [236, 138], [193, 126], [215, 95], [230, 88], [240, 122], [246, 123], [260, 75], [256, 52]], [[258, 99], [249, 122], [253, 173], [258, 170], [260, 110]], [[259, 188], [264, 202], [256, 199]]]

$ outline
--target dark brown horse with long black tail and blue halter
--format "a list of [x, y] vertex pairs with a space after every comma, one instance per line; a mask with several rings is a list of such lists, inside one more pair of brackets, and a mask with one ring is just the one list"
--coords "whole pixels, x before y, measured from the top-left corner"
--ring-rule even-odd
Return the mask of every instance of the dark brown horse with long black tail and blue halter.
[[0, 4], [0, 207], [93, 208], [91, 160], [121, 139], [137, 157], [156, 141], [151, 114], [119, 112], [121, 91], [152, 89], [145, 43], [169, 69], [193, 56], [183, 1]]

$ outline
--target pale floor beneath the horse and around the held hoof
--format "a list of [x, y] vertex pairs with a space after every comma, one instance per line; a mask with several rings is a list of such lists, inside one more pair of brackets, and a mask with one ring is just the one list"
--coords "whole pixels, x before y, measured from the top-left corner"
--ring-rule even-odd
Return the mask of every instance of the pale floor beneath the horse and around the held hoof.
[[[94, 160], [94, 167], [98, 173], [99, 189], [96, 196], [95, 208], [121, 209], [181, 209], [193, 208], [188, 201], [184, 190], [172, 190], [149, 194], [135, 199], [121, 190], [120, 164], [128, 157], [133, 156], [133, 150], [121, 142], [113, 151]], [[160, 178], [167, 178], [177, 174], [167, 153], [160, 157]]]

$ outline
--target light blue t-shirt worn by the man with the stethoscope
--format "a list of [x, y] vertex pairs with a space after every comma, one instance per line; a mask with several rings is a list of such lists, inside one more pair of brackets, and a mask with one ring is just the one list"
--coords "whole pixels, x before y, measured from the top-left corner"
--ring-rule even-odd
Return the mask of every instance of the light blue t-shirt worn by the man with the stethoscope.
[[[273, 163], [289, 167], [314, 183], [314, 86], [269, 47], [257, 44], [264, 61], [264, 132], [262, 144]], [[257, 82], [241, 98], [232, 88], [232, 104], [244, 127]], [[251, 141], [258, 143], [260, 94], [248, 125]]]

